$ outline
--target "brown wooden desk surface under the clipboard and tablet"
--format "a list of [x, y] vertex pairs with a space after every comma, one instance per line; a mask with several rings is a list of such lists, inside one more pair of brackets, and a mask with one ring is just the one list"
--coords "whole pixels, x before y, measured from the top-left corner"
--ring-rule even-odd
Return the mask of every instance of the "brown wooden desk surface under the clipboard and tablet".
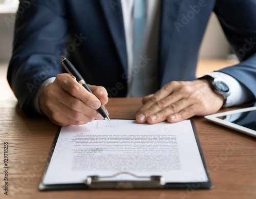
[[[0, 71], [2, 73], [3, 71]], [[212, 190], [37, 190], [48, 154], [58, 131], [46, 118], [27, 118], [8, 91], [0, 98], [0, 198], [255, 198], [256, 139], [206, 121], [192, 118], [197, 126], [210, 171]], [[111, 118], [134, 118], [140, 98], [111, 99]], [[4, 195], [4, 142], [8, 142], [8, 196]], [[61, 166], [61, 165], [60, 165]]]

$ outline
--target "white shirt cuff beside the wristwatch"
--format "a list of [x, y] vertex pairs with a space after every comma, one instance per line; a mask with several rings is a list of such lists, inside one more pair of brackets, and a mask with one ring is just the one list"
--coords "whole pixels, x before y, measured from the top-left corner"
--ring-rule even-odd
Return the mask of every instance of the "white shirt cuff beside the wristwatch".
[[247, 96], [249, 96], [247, 88], [230, 75], [221, 72], [212, 72], [207, 75], [221, 78], [228, 85], [230, 95], [227, 97], [223, 107], [241, 105], [249, 100], [247, 99]]

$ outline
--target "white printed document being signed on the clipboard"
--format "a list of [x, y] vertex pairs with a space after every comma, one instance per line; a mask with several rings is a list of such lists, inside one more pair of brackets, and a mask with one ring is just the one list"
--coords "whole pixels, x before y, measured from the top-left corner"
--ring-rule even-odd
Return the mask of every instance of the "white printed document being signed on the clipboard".
[[198, 183], [199, 187], [206, 184], [201, 187], [209, 188], [201, 146], [190, 120], [154, 125], [111, 121], [61, 127], [39, 189], [83, 184], [88, 176], [116, 173], [121, 174], [112, 180], [139, 180], [134, 175], [162, 176], [167, 186]]

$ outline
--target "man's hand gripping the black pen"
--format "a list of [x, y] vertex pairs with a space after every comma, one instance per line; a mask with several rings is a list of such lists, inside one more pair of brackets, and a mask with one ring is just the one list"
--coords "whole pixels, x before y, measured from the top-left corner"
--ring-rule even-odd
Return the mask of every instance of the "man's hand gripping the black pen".
[[39, 107], [49, 119], [61, 126], [81, 125], [103, 119], [96, 109], [108, 102], [108, 93], [101, 86], [89, 85], [91, 94], [71, 75], [59, 74], [40, 93]]

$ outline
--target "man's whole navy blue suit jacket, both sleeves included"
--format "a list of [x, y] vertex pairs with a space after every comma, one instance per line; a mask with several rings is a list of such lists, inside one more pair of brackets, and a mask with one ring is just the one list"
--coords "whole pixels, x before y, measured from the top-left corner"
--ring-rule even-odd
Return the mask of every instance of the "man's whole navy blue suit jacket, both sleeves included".
[[[159, 88], [173, 80], [195, 80], [198, 51], [212, 11], [241, 63], [221, 70], [256, 96], [256, 1], [162, 0]], [[152, 47], [154, 48], [154, 47]], [[63, 73], [66, 54], [88, 83], [110, 96], [127, 91], [127, 57], [120, 0], [20, 1], [8, 81], [27, 115], [47, 78]]]

